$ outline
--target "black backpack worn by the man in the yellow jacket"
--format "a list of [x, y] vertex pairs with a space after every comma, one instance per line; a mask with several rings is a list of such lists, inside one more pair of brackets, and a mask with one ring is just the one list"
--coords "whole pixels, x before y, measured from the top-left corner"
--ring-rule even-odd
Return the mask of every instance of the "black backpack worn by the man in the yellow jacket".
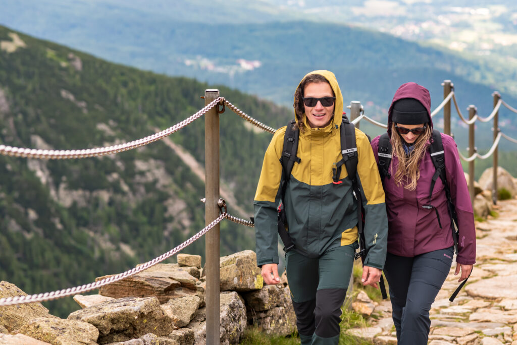
[[[278, 234], [284, 244], [284, 252], [288, 252], [289, 250], [294, 248], [294, 243], [287, 232], [287, 218], [285, 215], [284, 208], [282, 206], [282, 202], [285, 197], [285, 190], [287, 187], [287, 181], [291, 176], [291, 172], [293, 171], [294, 163], [300, 163], [300, 158], [296, 156], [298, 151], [298, 135], [299, 129], [296, 124], [296, 120], [291, 120], [287, 123], [287, 128], [285, 129], [284, 134], [284, 144], [282, 148], [282, 156], [280, 158], [280, 163], [282, 164], [282, 180], [281, 180], [281, 194], [280, 194], [280, 205], [278, 207]], [[366, 240], [364, 239], [364, 209], [362, 206], [362, 197], [361, 190], [359, 188], [359, 183], [357, 181], [357, 163], [358, 163], [358, 154], [357, 154], [357, 144], [355, 137], [355, 126], [351, 123], [346, 114], [343, 112], [343, 119], [341, 121], [340, 127], [340, 135], [341, 135], [341, 160], [336, 163], [336, 167], [332, 168], [332, 183], [340, 184], [343, 181], [339, 180], [339, 176], [341, 175], [341, 169], [343, 165], [346, 168], [348, 173], [348, 177], [352, 180], [352, 189], [356, 196], [357, 200], [357, 228], [359, 234], [359, 251], [355, 253], [355, 259], [359, 257], [364, 262], [366, 258]], [[386, 294], [386, 287], [384, 286], [383, 276], [381, 274], [381, 292], [383, 295], [383, 299], [387, 299], [388, 296]]]

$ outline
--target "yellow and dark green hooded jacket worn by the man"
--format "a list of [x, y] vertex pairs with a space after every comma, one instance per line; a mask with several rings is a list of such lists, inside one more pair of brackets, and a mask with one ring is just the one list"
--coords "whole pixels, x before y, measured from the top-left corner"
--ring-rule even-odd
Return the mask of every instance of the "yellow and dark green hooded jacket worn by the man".
[[[340, 125], [343, 96], [336, 77], [329, 71], [314, 71], [330, 83], [336, 102], [333, 122], [325, 128], [310, 128], [303, 114], [298, 153], [286, 186], [284, 207], [288, 232], [296, 252], [318, 257], [326, 250], [357, 241], [357, 202], [352, 181], [341, 169], [340, 184], [332, 182], [332, 167], [342, 159]], [[296, 117], [296, 115], [295, 115]], [[297, 119], [298, 122], [298, 119]], [[388, 222], [384, 190], [368, 137], [356, 129], [357, 175], [365, 210], [364, 236], [368, 255], [365, 265], [383, 269]], [[255, 194], [254, 217], [257, 264], [278, 263], [277, 205], [280, 201], [285, 127], [277, 130], [264, 156]]]

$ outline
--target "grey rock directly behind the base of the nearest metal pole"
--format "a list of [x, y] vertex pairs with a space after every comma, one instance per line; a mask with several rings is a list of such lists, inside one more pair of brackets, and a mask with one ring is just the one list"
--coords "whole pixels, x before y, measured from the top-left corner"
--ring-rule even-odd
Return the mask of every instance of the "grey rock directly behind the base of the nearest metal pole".
[[[246, 307], [242, 297], [235, 291], [221, 292], [220, 300], [220, 343], [237, 344], [246, 330]], [[194, 345], [206, 343], [206, 308], [198, 310], [188, 325], [194, 332]]]

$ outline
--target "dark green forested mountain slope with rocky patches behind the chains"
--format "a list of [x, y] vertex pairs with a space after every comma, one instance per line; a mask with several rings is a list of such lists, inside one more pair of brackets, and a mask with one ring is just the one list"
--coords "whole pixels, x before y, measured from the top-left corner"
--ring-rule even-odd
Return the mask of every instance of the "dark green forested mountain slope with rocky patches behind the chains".
[[[166, 129], [204, 106], [209, 88], [111, 64], [0, 26], [0, 144], [86, 149]], [[213, 85], [210, 85], [213, 87]], [[291, 111], [227, 87], [221, 95], [279, 126]], [[238, 206], [252, 200], [271, 135], [221, 115], [221, 175]], [[203, 165], [204, 118], [172, 134]], [[163, 140], [100, 158], [0, 155], [0, 280], [27, 293], [72, 287], [155, 258], [205, 225], [204, 183]], [[229, 211], [235, 214], [235, 205]], [[223, 221], [221, 254], [254, 248], [253, 229]], [[204, 240], [185, 253], [204, 253]], [[174, 260], [175, 262], [175, 260]], [[57, 306], [56, 306], [57, 305]], [[51, 305], [65, 313], [71, 299]], [[57, 311], [55, 310], [57, 308]]]

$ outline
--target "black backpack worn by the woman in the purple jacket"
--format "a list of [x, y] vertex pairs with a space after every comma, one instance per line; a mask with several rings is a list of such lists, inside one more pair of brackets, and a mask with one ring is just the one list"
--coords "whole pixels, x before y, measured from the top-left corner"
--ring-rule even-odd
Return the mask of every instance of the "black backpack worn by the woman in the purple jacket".
[[[445, 173], [445, 152], [444, 152], [444, 146], [442, 144], [442, 135], [439, 131], [433, 129], [432, 134], [432, 140], [431, 145], [429, 146], [429, 153], [431, 154], [431, 161], [433, 162], [435, 171], [433, 178], [431, 180], [431, 185], [429, 188], [429, 202], [427, 205], [422, 205], [425, 209], [434, 209], [436, 213], [436, 217], [438, 218], [438, 225], [440, 226], [440, 229], [442, 228], [442, 222], [440, 222], [440, 216], [438, 214], [438, 210], [436, 207], [431, 205], [431, 197], [433, 194], [434, 184], [436, 183], [436, 180], [438, 177], [442, 180], [445, 188], [445, 195], [447, 196], [447, 208], [449, 210], [449, 215], [451, 217], [451, 223], [452, 223], [452, 239], [454, 242], [454, 253], [458, 255], [458, 215], [456, 213], [456, 209], [454, 207], [454, 203], [452, 202], [451, 193], [449, 190], [449, 184], [447, 183], [446, 173]], [[379, 146], [377, 149], [377, 155], [378, 155], [378, 168], [379, 168], [379, 174], [381, 175], [381, 181], [384, 183], [385, 178], [391, 178], [391, 175], [388, 172], [388, 168], [391, 163], [391, 143], [390, 139], [388, 137], [388, 133], [384, 133], [379, 137]], [[472, 271], [471, 271], [472, 272]], [[470, 276], [470, 275], [469, 275]], [[450, 297], [449, 301], [454, 301], [454, 298], [456, 295], [460, 292], [461, 288], [465, 285], [467, 282], [467, 279], [463, 280], [461, 285], [454, 291], [452, 296]]]

